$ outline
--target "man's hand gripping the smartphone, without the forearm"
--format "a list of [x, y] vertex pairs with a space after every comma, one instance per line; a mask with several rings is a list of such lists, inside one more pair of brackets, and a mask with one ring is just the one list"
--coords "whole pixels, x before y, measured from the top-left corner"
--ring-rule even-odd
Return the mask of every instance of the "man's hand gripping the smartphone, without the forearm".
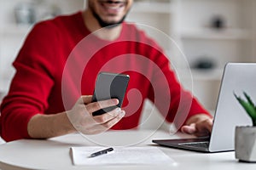
[[125, 116], [125, 111], [117, 108], [100, 116], [92, 116], [94, 111], [118, 105], [118, 99], [108, 99], [91, 103], [91, 96], [82, 96], [73, 106], [71, 111], [67, 111], [67, 117], [80, 133], [96, 134], [107, 131]]

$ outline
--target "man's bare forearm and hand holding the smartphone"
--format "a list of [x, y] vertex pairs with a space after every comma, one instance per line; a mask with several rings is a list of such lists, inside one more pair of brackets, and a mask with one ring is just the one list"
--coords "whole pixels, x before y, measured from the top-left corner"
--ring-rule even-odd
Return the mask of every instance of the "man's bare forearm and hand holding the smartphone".
[[32, 139], [48, 139], [76, 130], [84, 134], [102, 133], [119, 122], [125, 116], [125, 111], [118, 108], [101, 116], [92, 116], [92, 112], [118, 103], [118, 99], [91, 103], [91, 96], [82, 96], [71, 111], [32, 116], [27, 124], [27, 132]]

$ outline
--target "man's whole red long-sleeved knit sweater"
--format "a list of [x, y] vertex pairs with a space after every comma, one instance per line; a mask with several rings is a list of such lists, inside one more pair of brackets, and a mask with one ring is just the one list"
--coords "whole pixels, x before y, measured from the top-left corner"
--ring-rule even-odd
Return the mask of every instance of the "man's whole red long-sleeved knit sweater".
[[136, 26], [123, 24], [113, 42], [89, 34], [81, 13], [34, 26], [15, 59], [16, 74], [1, 105], [3, 139], [30, 138], [32, 116], [68, 111], [80, 95], [93, 94], [99, 71], [131, 77], [126, 115], [113, 129], [136, 128], [144, 99], [152, 100], [168, 122], [176, 115], [183, 123], [196, 113], [208, 114], [181, 88], [159, 46]]

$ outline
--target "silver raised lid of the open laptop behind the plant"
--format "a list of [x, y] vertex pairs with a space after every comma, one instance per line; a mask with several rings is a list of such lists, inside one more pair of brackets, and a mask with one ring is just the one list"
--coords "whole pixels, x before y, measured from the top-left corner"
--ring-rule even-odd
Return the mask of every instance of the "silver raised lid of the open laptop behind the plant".
[[236, 126], [251, 125], [247, 113], [237, 102], [234, 93], [243, 92], [256, 99], [256, 64], [229, 63], [225, 65], [218, 104], [214, 116], [214, 125], [210, 140], [210, 151], [234, 150]]

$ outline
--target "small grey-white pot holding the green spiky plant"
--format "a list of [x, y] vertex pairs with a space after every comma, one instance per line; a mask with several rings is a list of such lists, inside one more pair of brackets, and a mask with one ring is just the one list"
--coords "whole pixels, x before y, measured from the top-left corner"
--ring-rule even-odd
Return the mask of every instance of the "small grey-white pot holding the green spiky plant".
[[256, 162], [256, 127], [236, 127], [235, 153], [239, 161]]

